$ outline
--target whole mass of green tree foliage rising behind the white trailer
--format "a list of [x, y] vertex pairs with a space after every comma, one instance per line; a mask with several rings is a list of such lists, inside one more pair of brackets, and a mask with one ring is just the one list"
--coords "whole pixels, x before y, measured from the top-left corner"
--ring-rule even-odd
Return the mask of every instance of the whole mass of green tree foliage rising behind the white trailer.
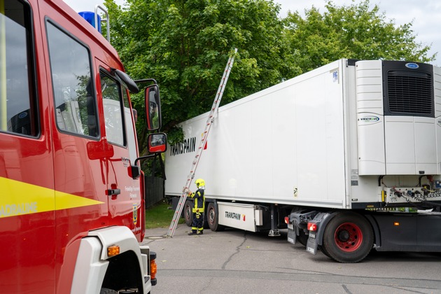
[[[158, 80], [163, 131], [169, 140], [182, 134], [174, 125], [209, 111], [234, 48], [239, 53], [223, 104], [258, 92], [283, 79], [336, 59], [405, 59], [430, 62], [429, 46], [416, 42], [412, 22], [395, 25], [369, 0], [349, 6], [329, 1], [321, 13], [312, 6], [279, 18], [273, 0], [127, 0], [105, 5], [111, 43], [133, 78]], [[144, 103], [139, 113], [141, 153], [146, 142]]]

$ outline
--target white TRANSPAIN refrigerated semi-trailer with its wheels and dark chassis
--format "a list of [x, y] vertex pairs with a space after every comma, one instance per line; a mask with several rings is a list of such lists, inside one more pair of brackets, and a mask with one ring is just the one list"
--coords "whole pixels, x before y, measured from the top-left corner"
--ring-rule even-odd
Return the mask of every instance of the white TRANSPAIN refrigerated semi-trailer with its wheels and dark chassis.
[[[182, 194], [207, 115], [180, 124], [166, 195]], [[205, 148], [196, 174], [211, 230], [287, 224], [288, 241], [339, 262], [373, 247], [441, 251], [437, 66], [337, 60], [220, 107]]]

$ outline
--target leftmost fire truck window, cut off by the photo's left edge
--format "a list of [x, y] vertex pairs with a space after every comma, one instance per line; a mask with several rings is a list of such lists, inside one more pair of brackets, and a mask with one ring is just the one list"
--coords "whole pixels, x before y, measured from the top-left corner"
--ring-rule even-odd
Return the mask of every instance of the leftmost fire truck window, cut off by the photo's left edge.
[[39, 134], [29, 6], [0, 3], [0, 131]]

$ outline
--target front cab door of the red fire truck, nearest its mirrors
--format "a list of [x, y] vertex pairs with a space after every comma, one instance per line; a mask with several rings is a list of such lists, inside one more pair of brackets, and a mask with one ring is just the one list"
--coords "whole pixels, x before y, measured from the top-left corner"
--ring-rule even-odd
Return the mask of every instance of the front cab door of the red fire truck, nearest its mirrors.
[[[106, 64], [99, 62], [100, 92], [104, 109], [106, 139], [113, 147], [109, 158], [107, 191], [111, 223], [124, 223], [138, 235], [141, 232], [141, 191], [139, 179], [132, 179], [130, 166], [137, 158], [134, 120], [127, 90], [111, 74]], [[144, 209], [144, 208], [142, 208]]]

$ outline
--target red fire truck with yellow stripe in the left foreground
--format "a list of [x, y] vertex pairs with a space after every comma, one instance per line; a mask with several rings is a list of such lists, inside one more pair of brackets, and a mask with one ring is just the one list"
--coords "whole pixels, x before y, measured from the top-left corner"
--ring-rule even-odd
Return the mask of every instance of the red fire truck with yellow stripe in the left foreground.
[[[0, 0], [0, 293], [151, 291], [129, 92], [116, 50], [62, 0]], [[157, 131], [158, 85], [144, 94]]]

